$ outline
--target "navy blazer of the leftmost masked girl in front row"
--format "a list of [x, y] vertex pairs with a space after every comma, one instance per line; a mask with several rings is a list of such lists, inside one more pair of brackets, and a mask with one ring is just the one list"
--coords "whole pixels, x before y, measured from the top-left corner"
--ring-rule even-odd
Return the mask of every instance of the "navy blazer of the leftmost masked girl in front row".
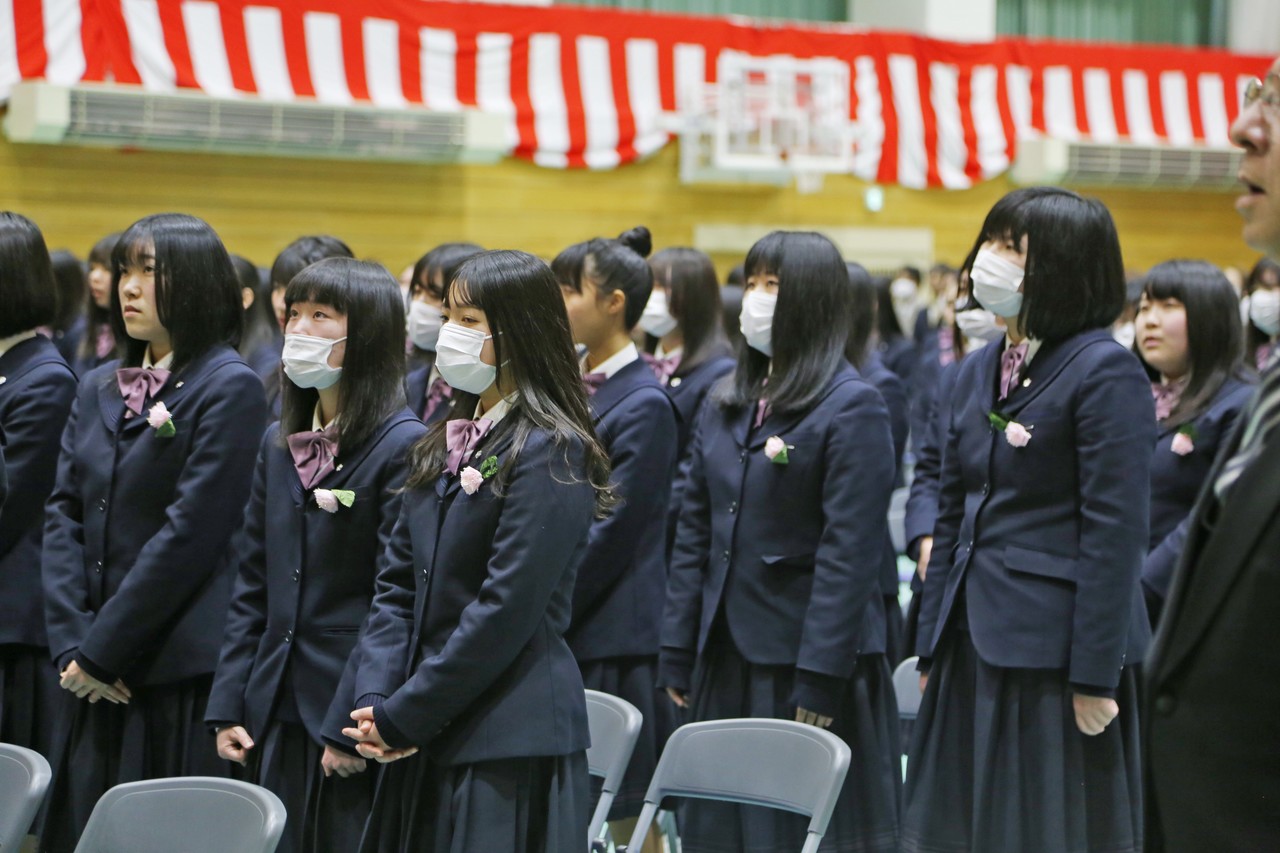
[[266, 430], [206, 722], [241, 724], [260, 736], [285, 689], [316, 743], [326, 715], [348, 719], [356, 697], [335, 695], [338, 684], [399, 517], [406, 453], [425, 433], [402, 409], [364, 444], [339, 448], [317, 488], [355, 492], [355, 502], [329, 514], [302, 489], [279, 425]]

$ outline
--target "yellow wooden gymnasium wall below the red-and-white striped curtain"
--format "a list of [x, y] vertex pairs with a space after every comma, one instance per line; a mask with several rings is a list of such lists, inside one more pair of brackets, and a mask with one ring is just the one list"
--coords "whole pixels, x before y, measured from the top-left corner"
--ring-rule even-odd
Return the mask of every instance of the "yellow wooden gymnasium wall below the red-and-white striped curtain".
[[[507, 160], [428, 167], [88, 147], [14, 145], [0, 138], [0, 207], [36, 220], [50, 248], [83, 256], [102, 234], [146, 214], [202, 216], [228, 248], [259, 265], [305, 233], [346, 240], [394, 273], [447, 240], [516, 247], [544, 257], [570, 242], [646, 224], [657, 247], [687, 245], [698, 223], [804, 227], [929, 227], [937, 260], [959, 263], [1004, 179], [969, 191], [884, 188], [883, 210], [863, 205], [865, 184], [828, 177], [815, 195], [794, 188], [682, 186], [676, 146], [612, 172], [561, 172]], [[1091, 192], [1084, 190], [1084, 192]], [[1097, 190], [1116, 218], [1129, 269], [1169, 257], [1247, 268], [1231, 193]], [[714, 260], [722, 273], [741, 257]]]

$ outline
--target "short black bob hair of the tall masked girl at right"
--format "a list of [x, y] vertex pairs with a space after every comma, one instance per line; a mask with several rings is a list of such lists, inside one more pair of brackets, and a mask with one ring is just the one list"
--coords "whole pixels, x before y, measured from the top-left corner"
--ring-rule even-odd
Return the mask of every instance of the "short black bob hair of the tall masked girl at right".
[[1062, 341], [1110, 327], [1125, 305], [1120, 237], [1106, 206], [1061, 187], [1014, 190], [987, 214], [974, 247], [1020, 245], [1027, 272], [1018, 325], [1027, 337]]

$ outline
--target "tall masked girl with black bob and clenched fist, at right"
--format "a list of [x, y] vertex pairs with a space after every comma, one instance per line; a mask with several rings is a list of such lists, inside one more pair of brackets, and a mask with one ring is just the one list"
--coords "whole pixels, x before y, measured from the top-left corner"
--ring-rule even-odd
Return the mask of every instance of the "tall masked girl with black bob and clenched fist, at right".
[[1155, 407], [1111, 336], [1120, 241], [1101, 202], [1028, 187], [975, 247], [1007, 334], [959, 362], [940, 429], [902, 849], [1137, 853]]

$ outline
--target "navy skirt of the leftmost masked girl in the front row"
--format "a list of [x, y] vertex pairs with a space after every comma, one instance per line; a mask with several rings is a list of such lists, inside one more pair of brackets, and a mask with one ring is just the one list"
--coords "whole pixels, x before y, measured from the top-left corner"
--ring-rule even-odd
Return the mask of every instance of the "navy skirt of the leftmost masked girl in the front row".
[[374, 804], [380, 765], [342, 779], [324, 775], [324, 747], [301, 722], [273, 722], [250, 751], [247, 781], [266, 788], [284, 803], [288, 821], [276, 853], [352, 853]]

